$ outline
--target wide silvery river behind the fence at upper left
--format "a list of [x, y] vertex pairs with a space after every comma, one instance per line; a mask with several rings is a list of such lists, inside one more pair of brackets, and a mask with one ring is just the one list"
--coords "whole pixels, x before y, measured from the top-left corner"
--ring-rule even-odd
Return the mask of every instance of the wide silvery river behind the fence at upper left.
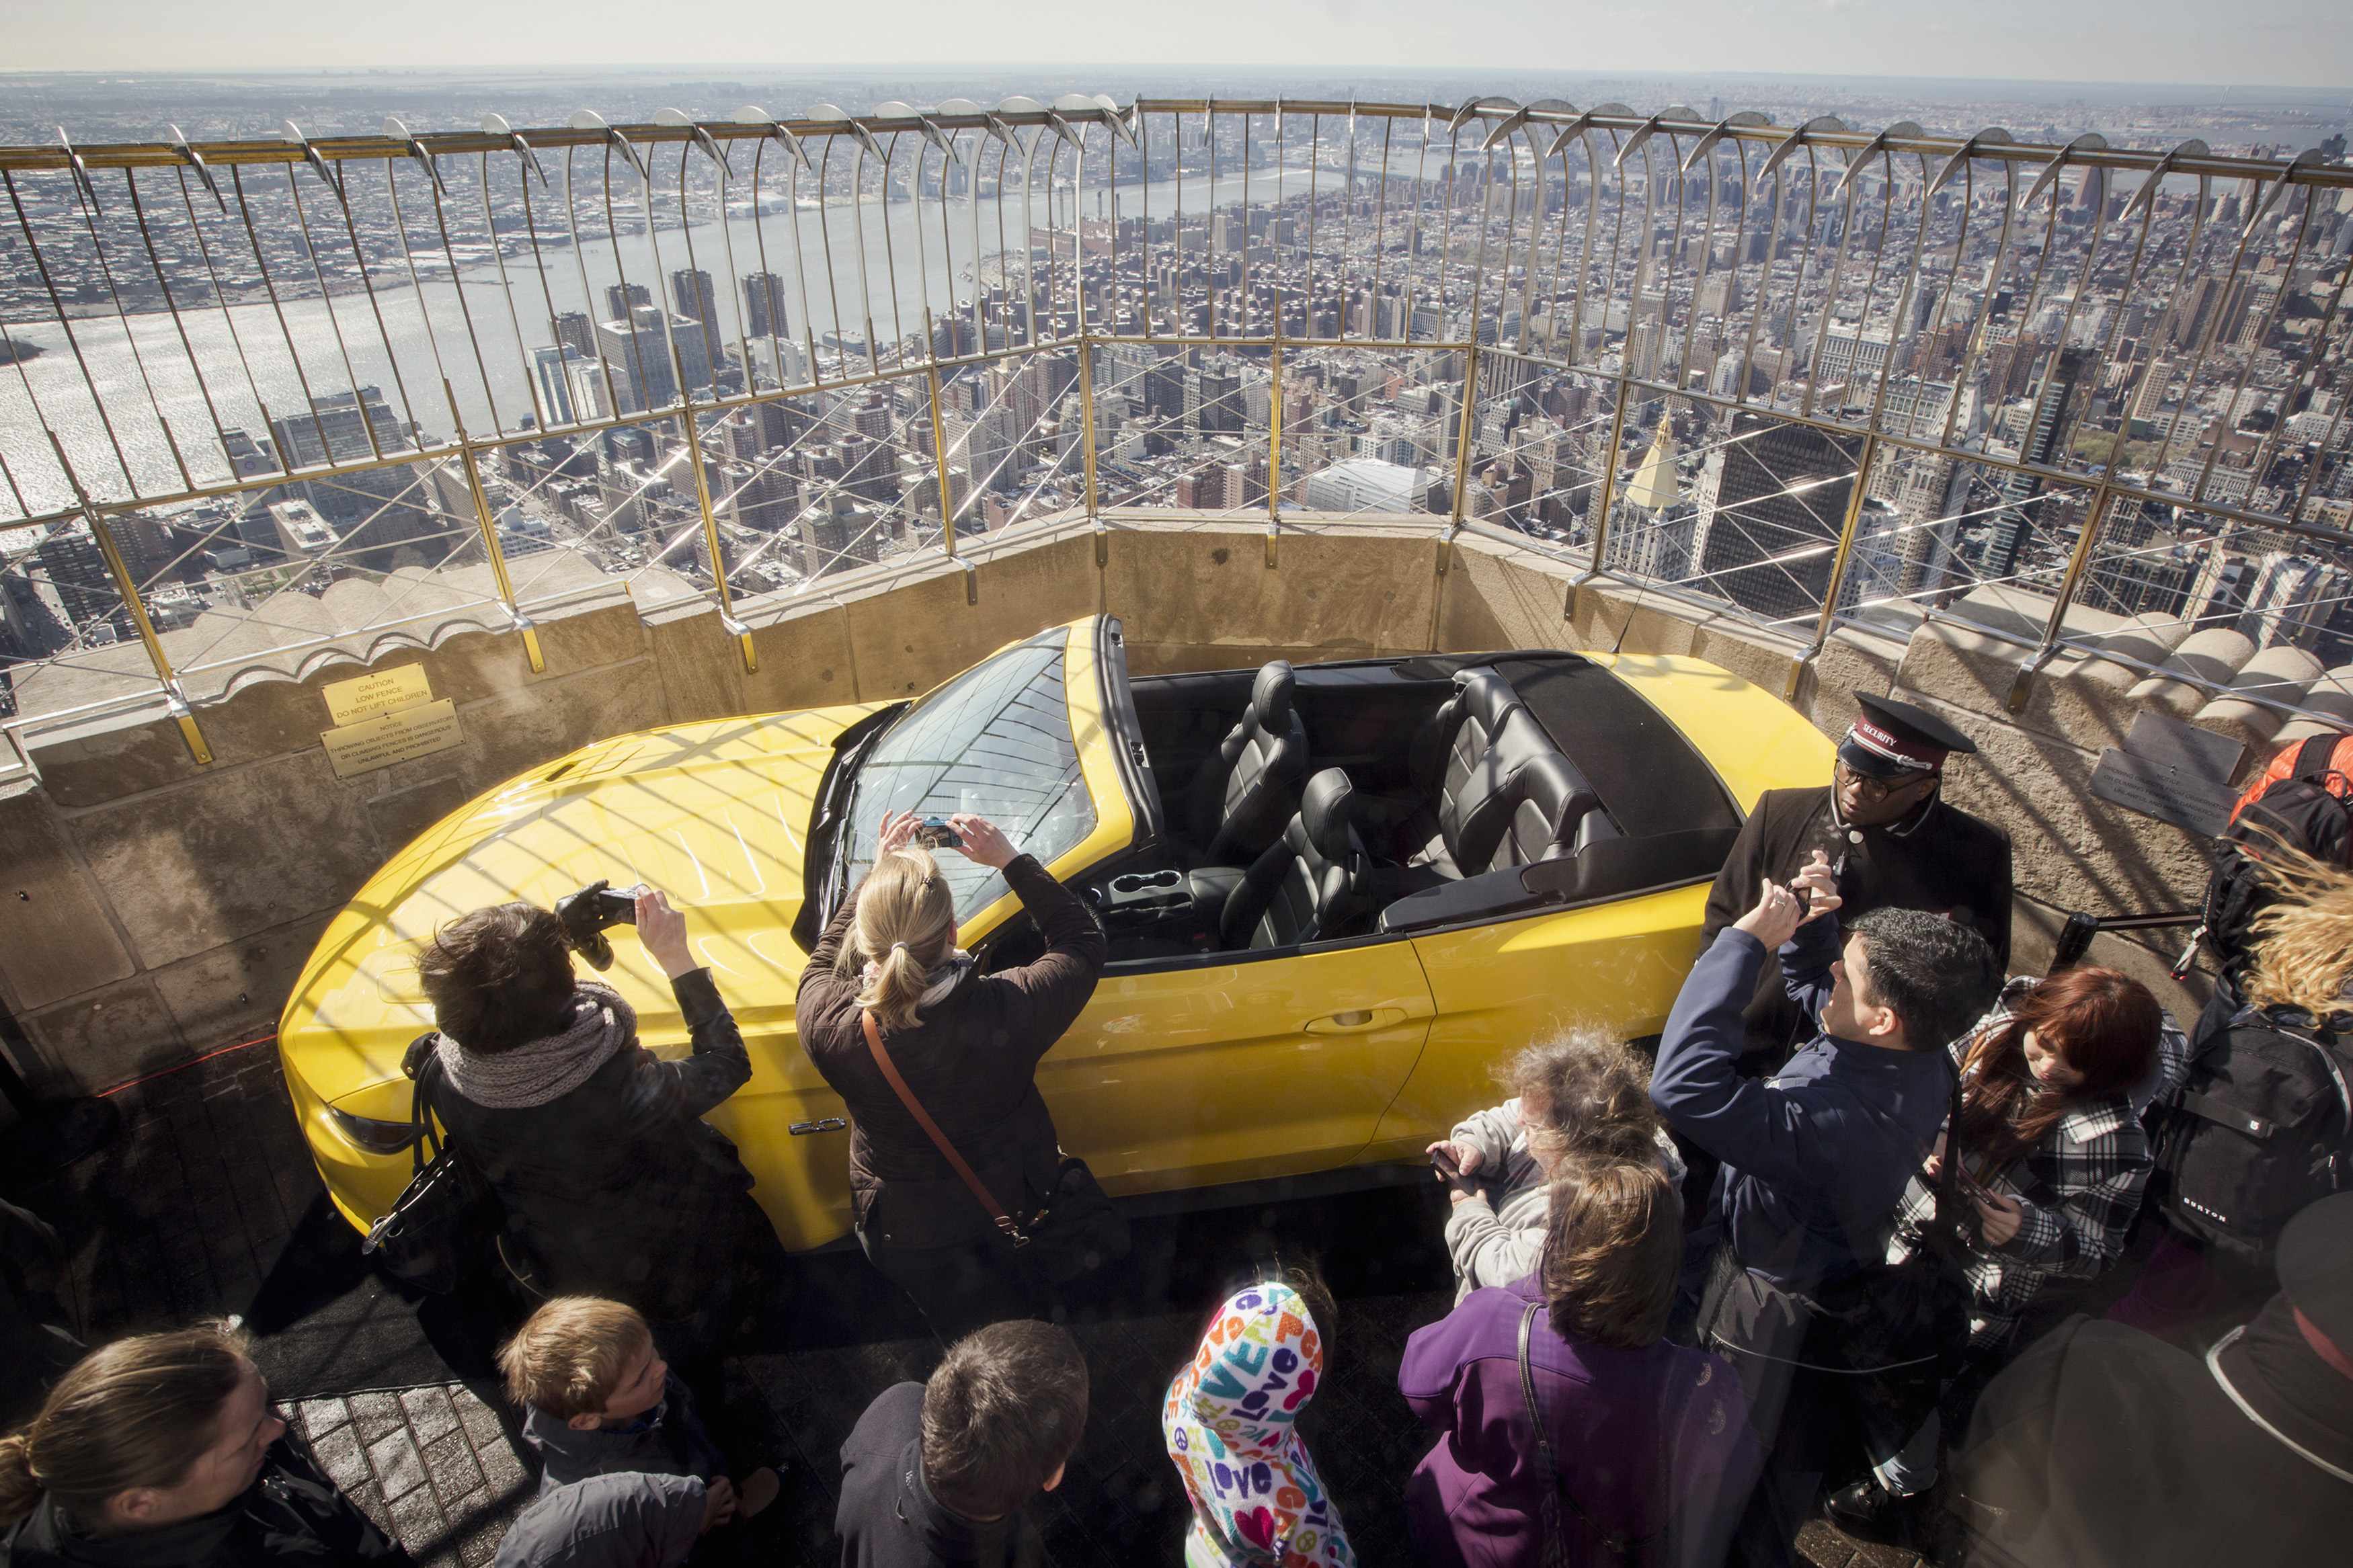
[[[1325, 188], [1339, 183], [1329, 169], [1318, 179]], [[1280, 195], [1301, 195], [1306, 186], [1306, 169], [1289, 169], [1282, 176]], [[1205, 212], [1209, 205], [1207, 176], [1188, 172], [1181, 195], [1188, 214]], [[1096, 188], [1082, 193], [1089, 219], [1108, 214], [1099, 197]], [[1144, 197], [1139, 197], [1136, 186], [1125, 186], [1118, 212], [1134, 216], [1146, 212], [1148, 202], [1148, 212], [1165, 219], [1174, 212], [1176, 197], [1179, 183], [1174, 179], [1153, 181]], [[1235, 169], [1219, 172], [1217, 205], [1233, 207], [1240, 200], [1240, 174]], [[1252, 174], [1249, 200], [1254, 205], [1278, 200], [1275, 179], [1266, 169]], [[1068, 223], [1068, 205], [1071, 197], [1064, 193], [1064, 226]], [[221, 425], [242, 425], [259, 437], [268, 421], [256, 395], [285, 418], [306, 407], [306, 388], [308, 395], [325, 395], [351, 386], [376, 386], [391, 407], [414, 418], [428, 437], [449, 437], [454, 425], [440, 390], [442, 378], [447, 378], [471, 435], [518, 430], [532, 416], [525, 350], [548, 343], [551, 306], [555, 313], [581, 310], [584, 299], [602, 301], [605, 289], [624, 275], [664, 299], [671, 270], [689, 266], [689, 244], [692, 266], [713, 275], [727, 353], [739, 353], [736, 313], [741, 308], [741, 292], [729, 287], [727, 277], [762, 270], [762, 244], [767, 247], [765, 270], [784, 280], [795, 341], [805, 331], [798, 303], [798, 280], [805, 277], [819, 339], [833, 327], [838, 301], [849, 336], [861, 336], [861, 317], [871, 303], [875, 334], [887, 343], [922, 329], [925, 303], [934, 313], [946, 313], [955, 299], [972, 299], [972, 212], [962, 197], [951, 200], [946, 235], [941, 235], [939, 212], [939, 202], [932, 200], [925, 200], [920, 209], [906, 200], [852, 205], [847, 197], [828, 202], [824, 212], [802, 207], [795, 214], [800, 275], [795, 275], [793, 261], [793, 219], [779, 205], [760, 219], [734, 216], [725, 230], [713, 221], [685, 230], [666, 226], [652, 237], [624, 233], [619, 254], [609, 237], [600, 237], [586, 240], [576, 254], [572, 247], [541, 252], [544, 268], [532, 266], [529, 252], [520, 259], [508, 256], [504, 287], [496, 263], [489, 261], [461, 270], [459, 282], [449, 282], [447, 275], [442, 280], [426, 277], [421, 292], [412, 289], [405, 275], [398, 287], [386, 287], [379, 266], [374, 301], [365, 292], [336, 294], [332, 301], [320, 299], [315, 284], [304, 277], [311, 287], [308, 299], [285, 299], [278, 308], [271, 303], [242, 303], [226, 310], [219, 306], [191, 308], [181, 310], [179, 327], [162, 310], [129, 317], [78, 317], [71, 336], [54, 317], [47, 322], [0, 322], [9, 336], [45, 350], [21, 364], [0, 364], [0, 456], [7, 458], [7, 475], [16, 491], [0, 484], [0, 517], [21, 515], [19, 505], [28, 512], [42, 512], [73, 501], [66, 475], [42, 435], [42, 423], [56, 430], [75, 473], [99, 501], [186, 489], [181, 463], [198, 484], [226, 480], [228, 458], [214, 437], [207, 395]], [[979, 212], [979, 254], [993, 256], [998, 252], [995, 200], [984, 200]], [[918, 216], [922, 233], [918, 233]], [[1038, 223], [1045, 223], [1042, 193], [1038, 195]], [[1005, 202], [1005, 244], [1019, 242], [1019, 226], [1021, 200], [1014, 193]], [[1068, 228], [1061, 233], [1066, 235]], [[856, 242], [859, 237], [864, 244]], [[1122, 254], [1120, 261], [1122, 270], [1134, 266], [1132, 254]], [[398, 266], [398, 256], [393, 263]], [[273, 270], [280, 287], [287, 284], [285, 273], [289, 268]], [[584, 273], [586, 292], [581, 287]], [[826, 287], [828, 277], [831, 289]], [[1064, 292], [1068, 289], [1066, 277], [1066, 273], [1056, 277]], [[605, 315], [602, 306], [591, 315]], [[188, 350], [181, 348], [181, 329], [186, 329], [188, 348], [202, 364], [202, 381], [191, 367]], [[87, 386], [99, 388], [104, 418]]]

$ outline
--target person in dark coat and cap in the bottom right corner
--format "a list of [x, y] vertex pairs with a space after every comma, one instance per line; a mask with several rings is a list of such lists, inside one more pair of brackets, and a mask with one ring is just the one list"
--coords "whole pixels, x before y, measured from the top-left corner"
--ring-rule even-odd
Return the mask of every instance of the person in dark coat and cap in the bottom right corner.
[[2280, 1234], [2280, 1293], [2202, 1359], [2073, 1319], [1955, 1455], [1967, 1561], [2339, 1563], [2353, 1540], [2353, 1192]]

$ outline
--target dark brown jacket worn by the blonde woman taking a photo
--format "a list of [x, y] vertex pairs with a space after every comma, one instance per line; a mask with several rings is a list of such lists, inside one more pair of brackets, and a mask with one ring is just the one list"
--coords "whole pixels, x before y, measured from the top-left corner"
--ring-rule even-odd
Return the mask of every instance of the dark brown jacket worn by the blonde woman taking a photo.
[[[993, 976], [967, 973], [920, 1011], [911, 1030], [882, 1030], [899, 1077], [948, 1135], [955, 1152], [1007, 1208], [1024, 1187], [1054, 1187], [1054, 1119], [1038, 1095], [1038, 1058], [1094, 994], [1104, 973], [1104, 929], [1078, 893], [1031, 856], [1005, 882], [1038, 922], [1045, 954]], [[833, 971], [856, 898], [826, 924], [800, 976], [800, 1048], [849, 1107], [849, 1197], [859, 1225], [889, 1246], [953, 1246], [995, 1234], [991, 1215], [922, 1133], [882, 1070], [859, 1023], [859, 978]]]

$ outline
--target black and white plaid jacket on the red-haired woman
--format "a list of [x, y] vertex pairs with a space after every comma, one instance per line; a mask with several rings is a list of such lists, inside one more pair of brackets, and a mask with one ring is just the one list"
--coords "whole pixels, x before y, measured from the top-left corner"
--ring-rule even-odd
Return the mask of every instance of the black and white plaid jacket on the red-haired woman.
[[[2012, 978], [1993, 1011], [1953, 1044], [1955, 1060], [1965, 1058], [1988, 1030], [2005, 1025], [2009, 1009], [2033, 987], [2031, 976]], [[1986, 1171], [1969, 1159], [1969, 1171], [1984, 1185], [2019, 1199], [2024, 1208], [2019, 1234], [2002, 1246], [1988, 1246], [1974, 1227], [1962, 1232], [1969, 1241], [1965, 1272], [1974, 1295], [1969, 1349], [2007, 1345], [2049, 1281], [2094, 1279], [2125, 1251], [2125, 1232], [2132, 1229], [2141, 1187], [2148, 1182], [2148, 1135], [2141, 1131], [2141, 1112], [2181, 1081], [2188, 1053], [2188, 1037], [2167, 1016], [2158, 1034], [2153, 1081], [2129, 1093], [2085, 1100], [2059, 1119], [2040, 1147], [2012, 1166]], [[1967, 1150], [1962, 1154], [1967, 1157]], [[1960, 1194], [1960, 1201], [1965, 1213], [1977, 1213], [1967, 1194]], [[1911, 1258], [1920, 1227], [1934, 1213], [1937, 1187], [1925, 1175], [1913, 1175], [1897, 1208], [1887, 1262]]]

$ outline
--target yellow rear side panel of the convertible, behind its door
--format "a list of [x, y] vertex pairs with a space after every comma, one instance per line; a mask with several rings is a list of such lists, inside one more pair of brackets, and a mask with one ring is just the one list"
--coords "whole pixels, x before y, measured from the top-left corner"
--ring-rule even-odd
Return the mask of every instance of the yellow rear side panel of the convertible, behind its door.
[[1431, 1041], [1365, 1159], [1419, 1159], [1494, 1105], [1494, 1070], [1574, 1027], [1657, 1034], [1699, 954], [1708, 884], [1431, 931], [1412, 938], [1435, 1001]]

